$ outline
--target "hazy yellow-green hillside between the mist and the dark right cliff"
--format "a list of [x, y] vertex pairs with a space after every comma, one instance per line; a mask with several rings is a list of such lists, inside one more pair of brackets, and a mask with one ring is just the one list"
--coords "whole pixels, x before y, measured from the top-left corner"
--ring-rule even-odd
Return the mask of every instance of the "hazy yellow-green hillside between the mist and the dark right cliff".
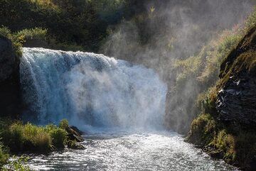
[[[241, 29], [234, 28], [233, 31], [223, 31], [218, 38], [205, 45], [198, 55], [174, 61], [171, 71], [176, 79], [171, 90], [173, 96], [176, 94], [176, 101], [171, 101], [171, 110], [174, 110], [171, 112], [173, 112], [172, 115], [175, 114], [176, 106], [180, 106], [180, 101], [183, 101], [184, 111], [182, 114], [178, 112], [177, 115], [178, 117], [183, 115], [181, 118], [184, 125], [191, 123], [193, 118], [200, 113], [202, 98], [207, 96], [206, 94], [213, 89], [212, 87], [215, 87], [218, 81], [222, 61], [241, 38]], [[186, 89], [186, 94], [184, 94], [184, 89]], [[211, 90], [211, 92], [214, 91]], [[186, 100], [184, 100], [184, 96], [186, 96]], [[175, 125], [176, 118], [171, 119], [174, 119], [171, 123]], [[188, 129], [189, 127], [183, 127], [182, 133], [186, 133]]]

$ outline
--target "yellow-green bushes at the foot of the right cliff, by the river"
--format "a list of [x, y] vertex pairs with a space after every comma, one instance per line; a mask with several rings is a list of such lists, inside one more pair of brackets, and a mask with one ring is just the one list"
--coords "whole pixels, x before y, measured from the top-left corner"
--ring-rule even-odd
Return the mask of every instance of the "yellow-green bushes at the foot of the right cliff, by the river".
[[256, 153], [256, 133], [225, 126], [210, 114], [201, 114], [193, 121], [186, 140], [210, 147], [206, 150], [210, 155], [218, 154], [226, 162], [243, 167]]

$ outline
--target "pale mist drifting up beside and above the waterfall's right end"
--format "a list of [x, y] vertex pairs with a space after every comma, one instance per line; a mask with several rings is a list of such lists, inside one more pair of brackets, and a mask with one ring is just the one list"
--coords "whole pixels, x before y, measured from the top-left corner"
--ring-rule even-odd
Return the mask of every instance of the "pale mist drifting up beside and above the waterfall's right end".
[[[186, 133], [196, 113], [199, 87], [186, 80], [177, 92], [174, 60], [197, 55], [221, 31], [242, 25], [255, 5], [250, 0], [140, 1], [139, 12], [124, 19], [100, 49], [100, 53], [153, 68], [168, 84], [166, 126]], [[135, 9], [136, 11], [137, 9]]]

